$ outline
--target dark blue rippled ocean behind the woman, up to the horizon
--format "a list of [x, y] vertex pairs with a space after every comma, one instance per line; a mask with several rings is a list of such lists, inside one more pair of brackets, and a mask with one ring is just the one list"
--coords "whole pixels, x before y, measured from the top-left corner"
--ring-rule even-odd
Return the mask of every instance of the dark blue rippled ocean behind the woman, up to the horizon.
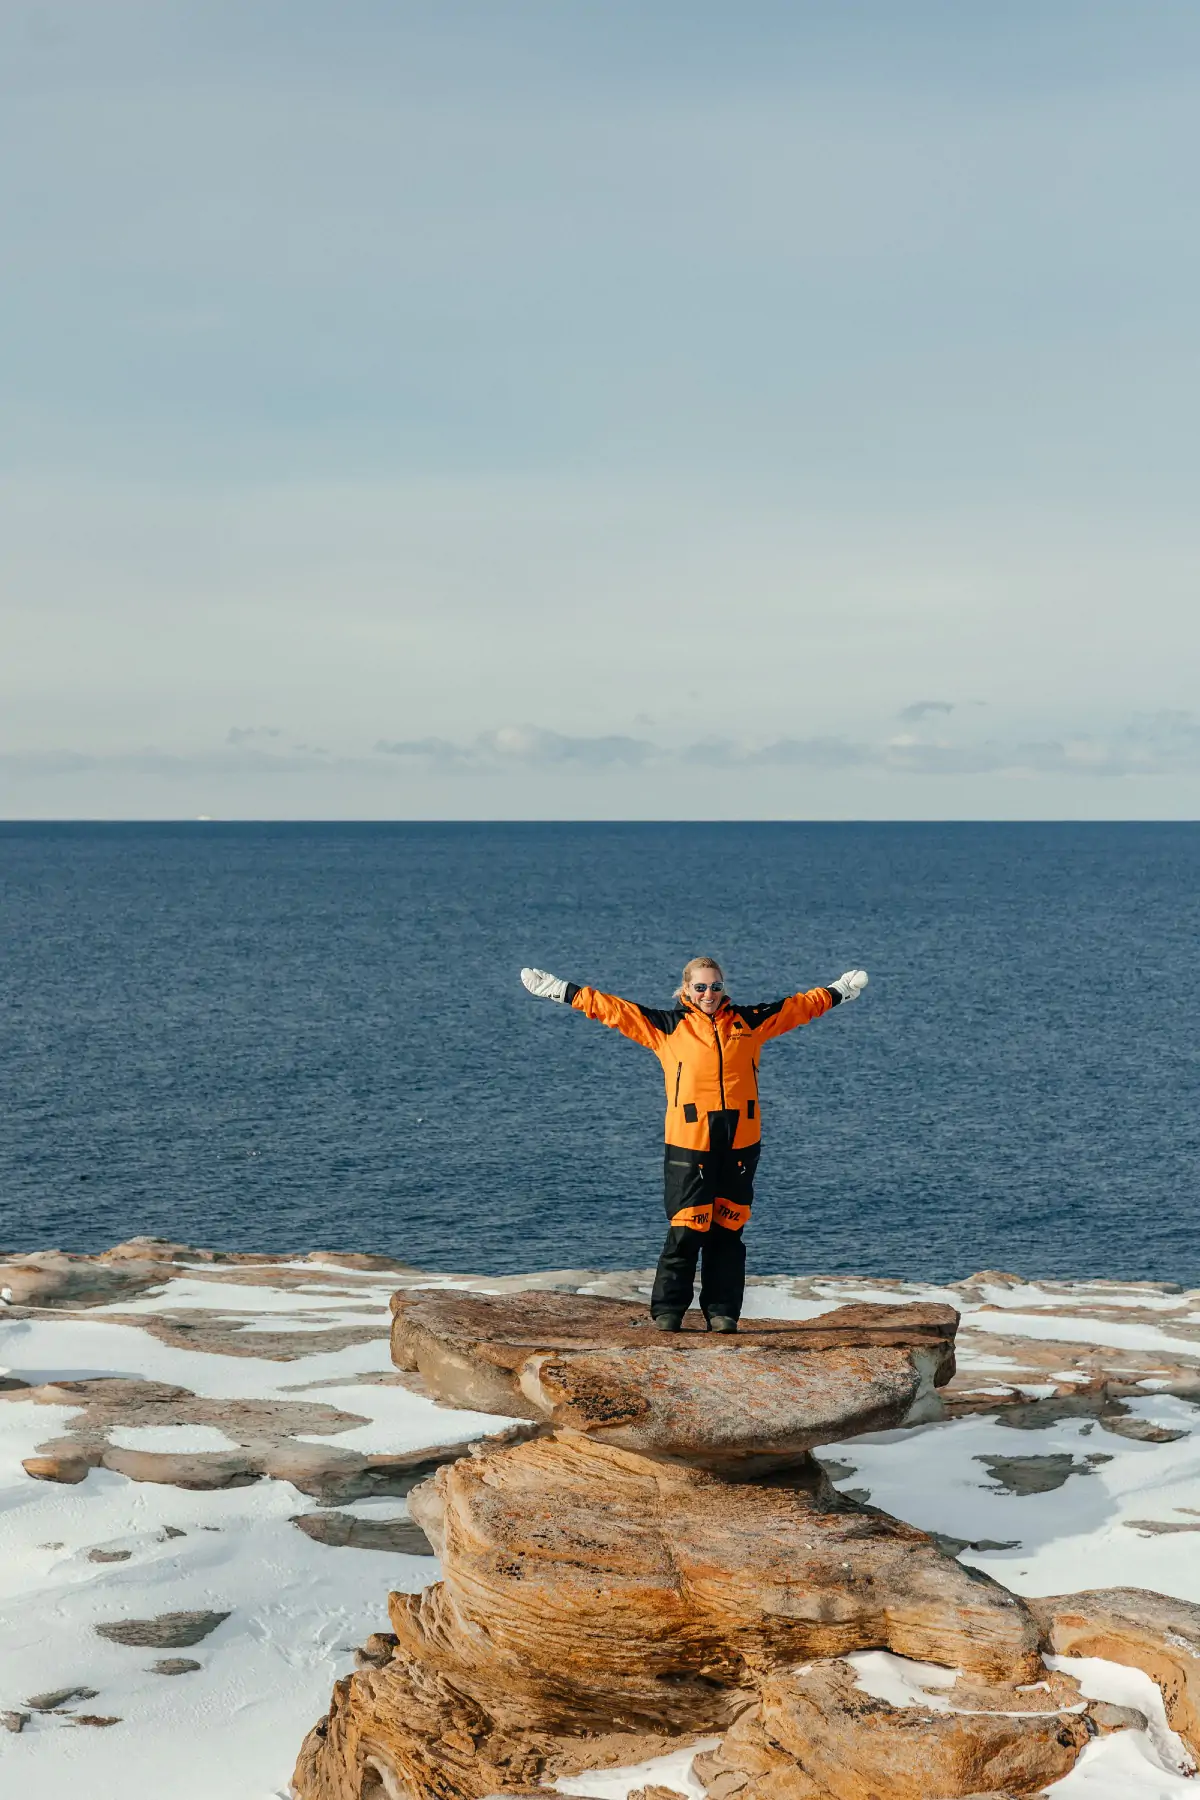
[[653, 1262], [662, 1004], [768, 1046], [752, 1269], [1200, 1282], [1193, 824], [0, 826], [0, 1242]]

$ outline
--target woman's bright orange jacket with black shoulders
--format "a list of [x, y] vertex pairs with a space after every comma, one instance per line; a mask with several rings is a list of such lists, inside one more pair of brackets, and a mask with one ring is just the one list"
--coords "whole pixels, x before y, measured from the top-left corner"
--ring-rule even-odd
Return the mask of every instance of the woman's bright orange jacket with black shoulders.
[[680, 1150], [712, 1147], [709, 1132], [716, 1120], [709, 1114], [720, 1118], [720, 1138], [729, 1148], [757, 1143], [763, 1134], [757, 1082], [763, 1044], [820, 1019], [840, 997], [833, 988], [810, 988], [765, 1006], [734, 1006], [725, 999], [709, 1015], [685, 999], [671, 1008], [639, 1006], [572, 981], [565, 995], [576, 1012], [653, 1049], [667, 1087], [666, 1141]]

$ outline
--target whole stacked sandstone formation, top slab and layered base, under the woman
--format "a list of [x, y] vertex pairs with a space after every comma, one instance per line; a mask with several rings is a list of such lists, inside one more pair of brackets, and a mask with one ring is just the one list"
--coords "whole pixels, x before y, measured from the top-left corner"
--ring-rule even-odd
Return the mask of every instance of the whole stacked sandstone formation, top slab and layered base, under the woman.
[[[338, 1683], [299, 1800], [484, 1800], [716, 1733], [714, 1800], [1033, 1795], [1074, 1762], [1085, 1703], [1022, 1600], [808, 1454], [950, 1377], [950, 1309], [721, 1341], [563, 1294], [394, 1314], [396, 1361], [443, 1399], [545, 1426], [414, 1489], [443, 1580], [390, 1597], [394, 1642]], [[844, 1661], [862, 1651], [957, 1687], [894, 1706]]]

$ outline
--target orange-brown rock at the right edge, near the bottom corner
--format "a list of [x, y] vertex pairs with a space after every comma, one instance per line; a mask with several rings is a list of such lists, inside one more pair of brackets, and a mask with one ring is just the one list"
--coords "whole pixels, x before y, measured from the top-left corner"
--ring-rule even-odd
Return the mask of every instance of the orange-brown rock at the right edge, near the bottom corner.
[[1027, 1606], [1056, 1656], [1103, 1656], [1151, 1676], [1171, 1730], [1200, 1755], [1200, 1606], [1144, 1588], [1090, 1588]]

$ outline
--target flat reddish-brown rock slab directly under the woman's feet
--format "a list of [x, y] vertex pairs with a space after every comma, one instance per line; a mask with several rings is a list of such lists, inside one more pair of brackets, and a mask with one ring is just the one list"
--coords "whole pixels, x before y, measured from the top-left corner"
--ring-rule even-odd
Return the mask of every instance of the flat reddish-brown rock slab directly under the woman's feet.
[[644, 1307], [554, 1292], [410, 1291], [392, 1316], [392, 1361], [441, 1400], [732, 1476], [934, 1417], [957, 1327], [954, 1307], [853, 1305], [662, 1334]]

